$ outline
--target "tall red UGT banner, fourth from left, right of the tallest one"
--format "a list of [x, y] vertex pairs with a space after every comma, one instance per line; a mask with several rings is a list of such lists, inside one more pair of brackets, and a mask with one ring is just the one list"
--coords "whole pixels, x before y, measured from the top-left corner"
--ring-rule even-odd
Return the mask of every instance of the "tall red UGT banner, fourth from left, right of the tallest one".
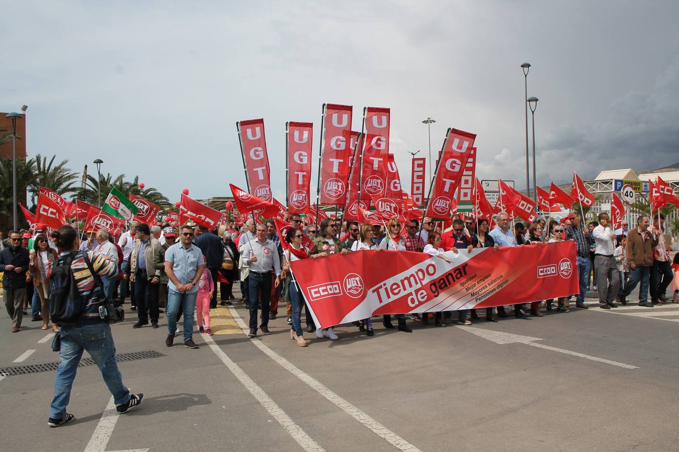
[[389, 108], [366, 107], [363, 115], [365, 139], [361, 152], [361, 200], [381, 198], [386, 190], [389, 153]]

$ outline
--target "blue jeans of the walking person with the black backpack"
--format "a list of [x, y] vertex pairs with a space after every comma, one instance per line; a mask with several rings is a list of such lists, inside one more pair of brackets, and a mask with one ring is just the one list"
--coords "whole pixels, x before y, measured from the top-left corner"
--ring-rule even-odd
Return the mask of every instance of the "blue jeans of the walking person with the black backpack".
[[50, 417], [61, 419], [66, 414], [66, 407], [71, 399], [71, 387], [75, 379], [83, 350], [87, 350], [101, 371], [106, 386], [113, 395], [115, 405], [122, 405], [130, 400], [130, 390], [125, 387], [122, 375], [115, 363], [115, 344], [108, 323], [95, 323], [73, 329], [62, 329], [61, 363], [54, 379], [54, 398]]

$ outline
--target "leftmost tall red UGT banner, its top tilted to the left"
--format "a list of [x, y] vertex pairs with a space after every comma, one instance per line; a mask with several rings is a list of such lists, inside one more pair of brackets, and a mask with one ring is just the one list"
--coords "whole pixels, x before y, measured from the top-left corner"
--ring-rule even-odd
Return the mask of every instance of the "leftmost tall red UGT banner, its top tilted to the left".
[[266, 152], [264, 120], [238, 122], [238, 137], [245, 160], [245, 176], [251, 192], [259, 199], [271, 201], [269, 156]]

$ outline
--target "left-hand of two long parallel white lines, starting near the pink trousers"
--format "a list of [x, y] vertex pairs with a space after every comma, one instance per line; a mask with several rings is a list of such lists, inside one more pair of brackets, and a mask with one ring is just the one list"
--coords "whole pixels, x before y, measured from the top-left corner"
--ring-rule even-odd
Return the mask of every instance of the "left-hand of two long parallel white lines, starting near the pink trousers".
[[316, 441], [311, 438], [300, 426], [295, 424], [293, 419], [290, 418], [285, 411], [283, 411], [274, 400], [266, 393], [264, 390], [249, 377], [243, 369], [240, 368], [227, 354], [215, 344], [215, 340], [208, 335], [203, 336], [206, 344], [210, 347], [210, 350], [215, 352], [217, 357], [222, 363], [240, 380], [246, 390], [250, 392], [257, 399], [259, 403], [278, 421], [278, 424], [293, 437], [297, 444], [301, 446], [302, 449], [309, 452], [324, 452], [325, 449], [320, 447]]

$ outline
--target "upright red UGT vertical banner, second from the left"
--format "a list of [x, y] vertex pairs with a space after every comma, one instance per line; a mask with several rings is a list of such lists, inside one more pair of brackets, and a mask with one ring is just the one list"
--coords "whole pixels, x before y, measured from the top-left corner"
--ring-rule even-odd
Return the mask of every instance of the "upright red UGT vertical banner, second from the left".
[[287, 123], [287, 203], [290, 213], [309, 211], [313, 129], [313, 123]]

